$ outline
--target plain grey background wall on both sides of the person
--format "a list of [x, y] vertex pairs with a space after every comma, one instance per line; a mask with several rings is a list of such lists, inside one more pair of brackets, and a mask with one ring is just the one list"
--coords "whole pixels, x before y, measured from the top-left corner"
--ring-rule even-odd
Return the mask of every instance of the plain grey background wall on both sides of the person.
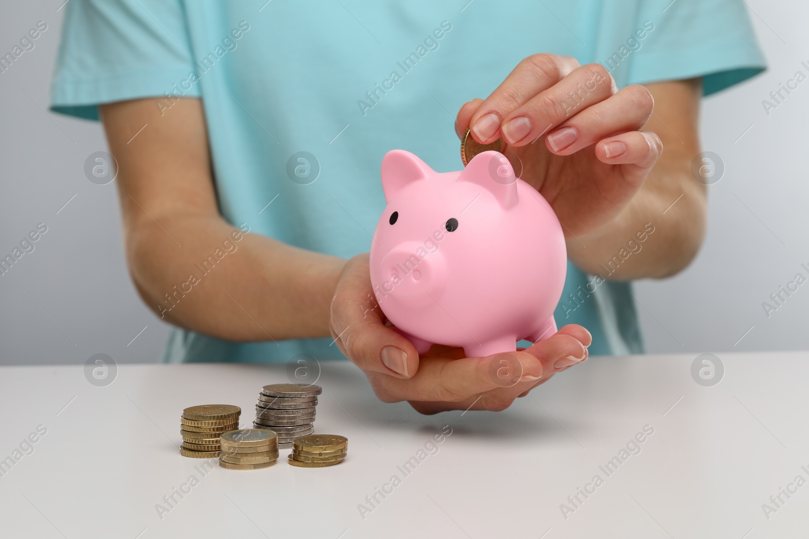
[[[37, 21], [48, 24], [35, 48], [0, 74], [0, 255], [37, 223], [48, 226], [35, 250], [0, 276], [0, 364], [84, 363], [100, 352], [153, 362], [168, 326], [129, 280], [115, 183], [95, 185], [83, 172], [87, 156], [106, 149], [104, 133], [46, 112], [62, 2], [0, 6], [2, 54]], [[696, 261], [674, 278], [637, 284], [650, 352], [809, 347], [809, 283], [769, 318], [761, 305], [796, 273], [809, 276], [801, 267], [809, 267], [809, 81], [769, 116], [761, 103], [798, 69], [809, 74], [801, 65], [809, 65], [809, 4], [747, 3], [769, 69], [703, 101], [703, 147], [726, 170], [709, 187], [708, 236]]]

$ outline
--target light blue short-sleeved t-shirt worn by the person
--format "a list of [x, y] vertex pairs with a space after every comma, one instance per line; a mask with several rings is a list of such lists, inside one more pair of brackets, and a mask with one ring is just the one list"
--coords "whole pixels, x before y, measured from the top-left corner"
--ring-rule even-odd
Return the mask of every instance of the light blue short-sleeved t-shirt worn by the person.
[[[65, 17], [53, 111], [97, 120], [99, 103], [165, 96], [171, 115], [176, 97], [201, 98], [222, 216], [345, 259], [370, 248], [383, 155], [460, 170], [455, 113], [524, 57], [600, 62], [619, 87], [701, 76], [706, 95], [764, 67], [735, 0], [72, 0]], [[642, 352], [631, 285], [598, 282], [568, 264], [558, 326], [587, 327], [592, 354]], [[163, 359], [342, 359], [331, 343], [175, 329]]]

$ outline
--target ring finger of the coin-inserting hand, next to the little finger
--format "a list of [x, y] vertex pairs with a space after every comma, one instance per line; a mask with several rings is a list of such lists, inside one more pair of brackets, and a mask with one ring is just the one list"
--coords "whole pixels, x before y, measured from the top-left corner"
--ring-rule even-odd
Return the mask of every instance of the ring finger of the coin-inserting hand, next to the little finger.
[[649, 120], [653, 106], [654, 99], [646, 87], [627, 86], [553, 129], [545, 144], [554, 154], [574, 154], [604, 137], [642, 128]]

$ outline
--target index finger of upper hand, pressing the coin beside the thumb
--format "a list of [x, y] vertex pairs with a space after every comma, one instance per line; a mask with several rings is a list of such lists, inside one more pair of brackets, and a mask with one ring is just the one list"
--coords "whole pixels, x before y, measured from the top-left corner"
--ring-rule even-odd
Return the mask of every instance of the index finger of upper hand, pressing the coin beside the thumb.
[[481, 144], [496, 141], [501, 136], [503, 118], [577, 67], [575, 58], [555, 54], [534, 54], [525, 58], [472, 115], [472, 137]]

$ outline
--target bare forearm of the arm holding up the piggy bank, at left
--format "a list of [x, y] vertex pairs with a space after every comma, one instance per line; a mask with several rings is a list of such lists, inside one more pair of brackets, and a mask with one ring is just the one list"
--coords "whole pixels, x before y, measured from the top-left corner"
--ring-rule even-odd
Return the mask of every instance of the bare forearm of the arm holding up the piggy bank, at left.
[[127, 259], [159, 317], [237, 341], [329, 335], [345, 260], [245, 234], [218, 217], [143, 217], [125, 225]]

